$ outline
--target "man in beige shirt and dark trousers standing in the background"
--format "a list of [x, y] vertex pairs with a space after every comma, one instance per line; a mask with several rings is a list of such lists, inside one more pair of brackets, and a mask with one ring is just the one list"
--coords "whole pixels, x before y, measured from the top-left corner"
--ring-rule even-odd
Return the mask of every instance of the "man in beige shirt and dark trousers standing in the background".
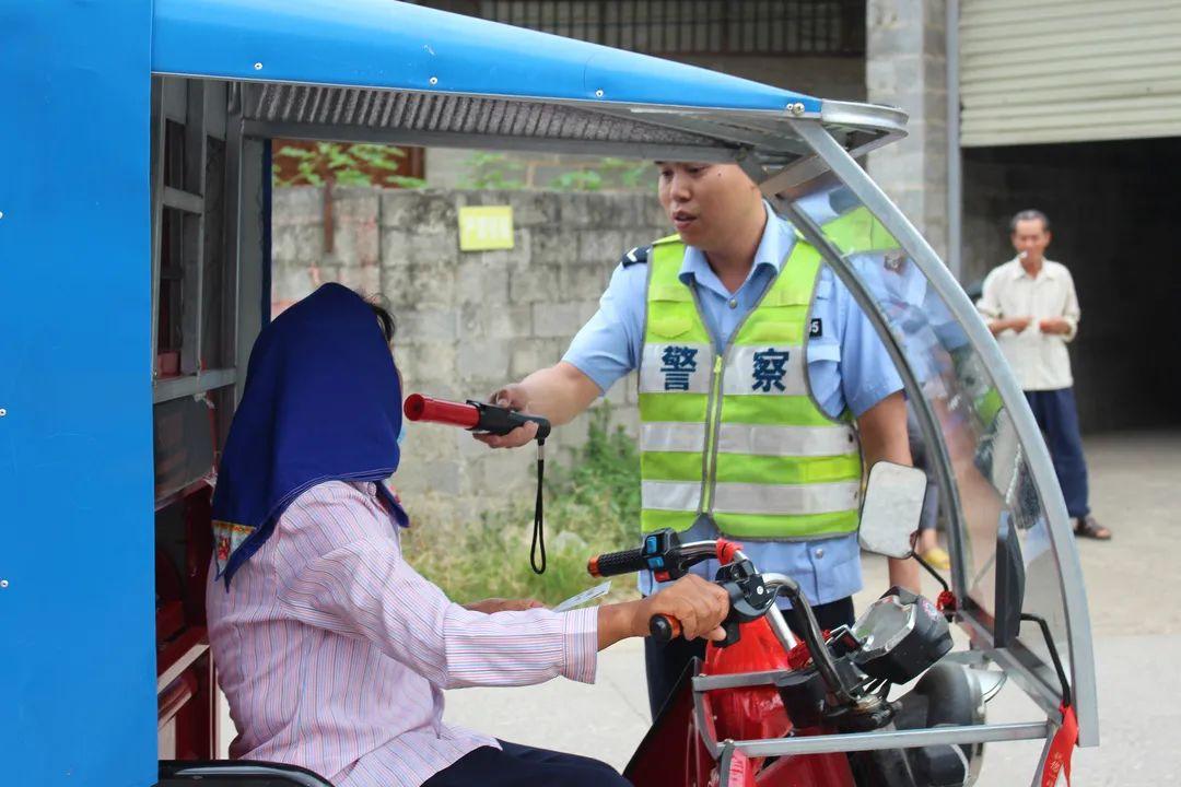
[[1078, 332], [1075, 282], [1065, 265], [1045, 258], [1050, 245], [1045, 214], [1023, 210], [1013, 217], [1010, 230], [1017, 256], [984, 280], [977, 308], [988, 321], [1045, 434], [1075, 533], [1107, 540], [1111, 531], [1095, 520], [1088, 505], [1087, 459], [1066, 353], [1066, 342]]

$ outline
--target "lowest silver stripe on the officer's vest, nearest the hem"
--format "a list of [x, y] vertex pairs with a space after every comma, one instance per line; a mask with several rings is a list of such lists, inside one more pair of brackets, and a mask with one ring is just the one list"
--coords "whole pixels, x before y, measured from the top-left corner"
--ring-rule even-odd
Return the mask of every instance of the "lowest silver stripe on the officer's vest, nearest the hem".
[[[808, 514], [856, 511], [860, 481], [835, 484], [718, 484], [713, 510], [719, 513]], [[697, 511], [702, 485], [692, 481], [642, 481], [641, 505], [657, 511]]]

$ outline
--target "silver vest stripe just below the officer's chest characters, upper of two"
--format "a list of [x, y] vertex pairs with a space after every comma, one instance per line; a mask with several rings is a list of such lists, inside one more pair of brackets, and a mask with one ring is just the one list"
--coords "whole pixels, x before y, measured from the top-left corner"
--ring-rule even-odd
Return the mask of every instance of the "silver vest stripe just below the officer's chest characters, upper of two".
[[[705, 426], [683, 421], [647, 421], [640, 425], [640, 451], [705, 451]], [[852, 427], [765, 426], [723, 424], [718, 451], [756, 457], [839, 457], [856, 453], [857, 438]]]

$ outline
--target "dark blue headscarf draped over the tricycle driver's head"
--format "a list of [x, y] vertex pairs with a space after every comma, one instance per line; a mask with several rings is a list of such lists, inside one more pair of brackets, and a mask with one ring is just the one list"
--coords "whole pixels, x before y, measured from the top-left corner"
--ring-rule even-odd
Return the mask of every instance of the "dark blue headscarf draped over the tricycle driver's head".
[[381, 483], [398, 467], [400, 428], [393, 355], [359, 295], [325, 284], [266, 326], [214, 492], [214, 555], [227, 589], [292, 500], [317, 484], [377, 481], [393, 520], [406, 526]]

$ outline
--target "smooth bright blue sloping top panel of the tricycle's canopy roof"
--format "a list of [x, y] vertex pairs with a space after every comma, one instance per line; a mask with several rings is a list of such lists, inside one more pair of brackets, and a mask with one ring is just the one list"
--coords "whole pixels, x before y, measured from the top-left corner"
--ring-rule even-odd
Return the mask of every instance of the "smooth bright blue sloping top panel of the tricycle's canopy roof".
[[469, 96], [821, 107], [748, 79], [392, 0], [157, 0], [152, 70]]

